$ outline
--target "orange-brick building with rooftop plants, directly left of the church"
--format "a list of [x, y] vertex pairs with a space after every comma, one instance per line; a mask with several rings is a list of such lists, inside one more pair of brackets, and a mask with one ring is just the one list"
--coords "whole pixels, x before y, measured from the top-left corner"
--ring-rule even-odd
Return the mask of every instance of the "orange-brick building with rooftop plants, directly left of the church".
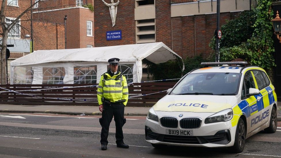
[[93, 4], [93, 0], [39, 1], [33, 20], [64, 25], [64, 18], [67, 16], [66, 48], [94, 47], [94, 13], [85, 6], [86, 4]]

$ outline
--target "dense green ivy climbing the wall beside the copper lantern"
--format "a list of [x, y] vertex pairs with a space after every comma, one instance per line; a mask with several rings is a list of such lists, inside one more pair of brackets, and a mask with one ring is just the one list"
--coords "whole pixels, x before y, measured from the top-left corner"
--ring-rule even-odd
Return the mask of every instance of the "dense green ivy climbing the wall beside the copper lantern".
[[[256, 9], [248, 11], [252, 12], [253, 16], [246, 18], [244, 17], [244, 14], [242, 14], [244, 20], [247, 19], [245, 21], [254, 21], [253, 24], [252, 22], [249, 22], [247, 28], [244, 28], [245, 30], [252, 31], [251, 36], [249, 36], [249, 34], [244, 36], [242, 35], [244, 33], [242, 33], [240, 29], [234, 29], [241, 28], [240, 24], [236, 26], [235, 23], [233, 23], [235, 19], [228, 21], [227, 24], [222, 26], [222, 32], [225, 33], [225, 41], [221, 41], [220, 61], [230, 61], [236, 58], [242, 58], [248, 61], [249, 64], [257, 65], [265, 69], [271, 69], [273, 66], [276, 66], [273, 58], [274, 41], [272, 39], [273, 33], [270, 22], [273, 16], [273, 13], [270, 10], [271, 3], [272, 0], [260, 0], [258, 1]], [[230, 25], [234, 25], [234, 28], [232, 28], [234, 29], [234, 32], [228, 33], [227, 30], [223, 30], [226, 27], [230, 27]], [[229, 34], [236, 35], [235, 40], [237, 41], [235, 44], [231, 44], [233, 41], [227, 36]], [[242, 36], [244, 39], [240, 38]], [[214, 38], [212, 39], [210, 46], [213, 48], [215, 47]]]

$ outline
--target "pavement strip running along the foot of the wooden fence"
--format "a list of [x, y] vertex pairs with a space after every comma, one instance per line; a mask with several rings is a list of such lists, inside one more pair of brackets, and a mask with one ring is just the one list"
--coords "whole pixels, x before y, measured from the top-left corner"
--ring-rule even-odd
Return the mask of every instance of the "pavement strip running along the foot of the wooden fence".
[[[281, 102], [277, 103], [277, 119], [281, 121]], [[126, 106], [125, 116], [147, 116], [151, 107]], [[101, 115], [98, 106], [15, 105], [0, 104], [0, 113], [51, 113], [64, 115]]]

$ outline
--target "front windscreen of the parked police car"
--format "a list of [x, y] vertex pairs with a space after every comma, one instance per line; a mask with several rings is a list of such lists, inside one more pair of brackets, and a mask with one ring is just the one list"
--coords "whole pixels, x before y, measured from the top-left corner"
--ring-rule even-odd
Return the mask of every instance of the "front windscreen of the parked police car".
[[236, 95], [241, 73], [191, 73], [170, 95]]

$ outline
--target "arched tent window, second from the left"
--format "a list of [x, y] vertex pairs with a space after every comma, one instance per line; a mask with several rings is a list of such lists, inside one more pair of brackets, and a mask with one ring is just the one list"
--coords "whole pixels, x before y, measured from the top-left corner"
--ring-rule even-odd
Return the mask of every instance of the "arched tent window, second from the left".
[[43, 84], [63, 84], [64, 67], [43, 67]]

